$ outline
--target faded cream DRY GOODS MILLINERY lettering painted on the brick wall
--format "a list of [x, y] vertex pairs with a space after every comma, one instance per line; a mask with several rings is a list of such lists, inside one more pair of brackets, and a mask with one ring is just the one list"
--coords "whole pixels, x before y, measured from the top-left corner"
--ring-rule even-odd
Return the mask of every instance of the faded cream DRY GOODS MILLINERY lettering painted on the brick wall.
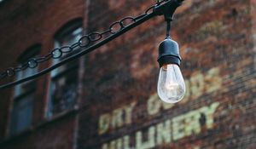
[[[219, 68], [214, 67], [206, 73], [195, 72], [190, 79], [186, 80], [187, 95], [178, 103], [184, 104], [188, 100], [195, 100], [205, 93], [217, 91], [222, 85], [222, 78], [219, 76]], [[111, 140], [102, 145], [102, 149], [146, 149], [163, 144], [170, 144], [185, 136], [201, 133], [202, 127], [212, 129], [213, 114], [216, 112], [219, 103], [214, 102], [208, 106], [183, 113], [176, 117], [161, 120], [159, 123], [148, 126], [143, 130], [137, 130], [133, 134], [124, 135], [116, 140]], [[123, 127], [131, 126], [133, 111], [136, 110], [137, 102], [114, 109], [113, 112], [104, 113], [99, 117], [98, 135], [107, 134]], [[148, 98], [147, 114], [154, 119], [162, 110], [172, 109], [173, 104], [166, 104], [159, 100], [154, 94]], [[146, 130], [145, 130], [146, 129]], [[145, 137], [147, 139], [145, 139]], [[130, 142], [135, 142], [130, 144]], [[195, 146], [195, 148], [199, 148]]]

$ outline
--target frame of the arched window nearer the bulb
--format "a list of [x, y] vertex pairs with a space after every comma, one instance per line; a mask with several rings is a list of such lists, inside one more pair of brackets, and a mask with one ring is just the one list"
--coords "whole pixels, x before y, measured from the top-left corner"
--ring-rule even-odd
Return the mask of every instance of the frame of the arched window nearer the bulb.
[[[83, 25], [82, 20], [79, 19], [79, 20], [71, 21], [71, 22], [67, 23], [65, 26], [62, 26], [61, 29], [55, 33], [55, 37], [54, 37], [55, 48], [60, 48], [61, 46], [66, 46], [65, 44], [62, 44], [61, 42], [63, 40], [65, 40], [64, 39], [65, 37], [68, 37], [70, 34], [73, 34], [73, 32], [78, 32], [74, 36], [75, 38], [77, 38], [77, 36], [81, 37], [83, 34], [83, 26], [82, 25]], [[62, 55], [60, 59], [53, 60], [52, 64], [56, 64], [60, 60], [66, 59], [67, 57], [69, 57], [73, 54], [76, 54], [77, 52], [79, 52], [79, 51], [74, 50], [73, 52], [71, 52], [69, 54]], [[77, 91], [76, 91], [75, 97], [74, 97], [75, 100], [73, 101], [73, 105], [71, 107], [61, 110], [60, 112], [55, 112], [55, 110], [54, 110], [55, 104], [53, 103], [54, 102], [53, 100], [55, 100], [53, 96], [54, 96], [54, 92], [56, 91], [55, 84], [57, 83], [58, 79], [61, 79], [61, 77], [67, 76], [67, 78], [68, 78], [68, 72], [75, 71], [74, 73], [77, 77], [77, 80], [75, 80], [75, 82], [77, 83], [76, 88], [78, 87], [79, 59], [77, 61], [74, 61], [73, 63], [74, 63], [74, 65], [72, 65], [72, 66], [68, 66], [67, 64], [63, 65], [62, 68], [64, 67], [64, 70], [61, 70], [61, 67], [60, 67], [50, 73], [48, 104], [47, 104], [47, 112], [46, 112], [46, 117], [48, 117], [48, 118], [61, 115], [63, 112], [67, 112], [67, 111], [73, 109], [73, 107], [76, 106], [76, 104], [77, 104], [77, 99], [78, 99], [78, 95], [79, 95]], [[63, 87], [65, 87], [65, 85], [63, 85]], [[61, 98], [61, 100], [63, 100], [63, 98]], [[65, 100], [65, 101], [67, 101], [67, 100]], [[58, 105], [58, 104], [60, 104], [60, 103], [57, 103], [56, 105]]]

